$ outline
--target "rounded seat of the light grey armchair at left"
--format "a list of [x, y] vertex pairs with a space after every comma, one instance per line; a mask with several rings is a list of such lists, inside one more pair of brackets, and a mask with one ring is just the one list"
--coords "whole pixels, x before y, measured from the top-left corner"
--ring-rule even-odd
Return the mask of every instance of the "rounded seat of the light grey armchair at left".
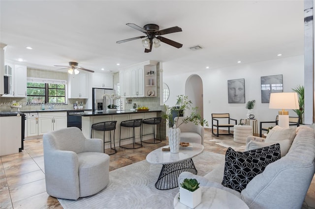
[[104, 153], [80, 153], [79, 183], [80, 197], [93, 195], [109, 182], [109, 156]]

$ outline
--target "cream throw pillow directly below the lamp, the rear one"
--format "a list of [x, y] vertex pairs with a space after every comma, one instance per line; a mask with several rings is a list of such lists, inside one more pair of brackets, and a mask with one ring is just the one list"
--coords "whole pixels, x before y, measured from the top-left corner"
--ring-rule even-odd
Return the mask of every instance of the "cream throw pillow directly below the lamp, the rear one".
[[280, 126], [275, 126], [271, 130], [269, 130], [269, 133], [266, 136], [265, 142], [275, 142], [275, 141], [281, 141], [284, 139], [289, 139], [292, 144], [295, 135], [296, 135], [296, 127], [282, 128]]

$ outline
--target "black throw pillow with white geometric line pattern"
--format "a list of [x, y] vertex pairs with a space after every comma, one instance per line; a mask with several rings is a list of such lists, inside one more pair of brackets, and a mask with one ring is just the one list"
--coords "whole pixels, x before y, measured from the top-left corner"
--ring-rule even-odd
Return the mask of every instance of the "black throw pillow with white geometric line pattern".
[[279, 143], [244, 153], [229, 147], [225, 153], [222, 185], [241, 192], [269, 163], [280, 158]]

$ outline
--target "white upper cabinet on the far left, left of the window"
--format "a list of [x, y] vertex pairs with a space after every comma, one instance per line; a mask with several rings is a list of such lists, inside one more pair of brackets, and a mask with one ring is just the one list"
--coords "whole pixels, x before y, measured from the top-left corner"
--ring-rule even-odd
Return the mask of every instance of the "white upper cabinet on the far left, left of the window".
[[4, 76], [8, 77], [8, 94], [2, 97], [27, 97], [27, 66], [4, 63]]

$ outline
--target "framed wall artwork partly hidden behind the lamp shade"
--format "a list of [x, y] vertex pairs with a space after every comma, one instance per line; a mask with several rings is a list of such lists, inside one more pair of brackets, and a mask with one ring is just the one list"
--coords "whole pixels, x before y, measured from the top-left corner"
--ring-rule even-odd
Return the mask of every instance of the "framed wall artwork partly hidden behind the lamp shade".
[[270, 94], [283, 92], [282, 75], [260, 77], [261, 103], [269, 103]]

